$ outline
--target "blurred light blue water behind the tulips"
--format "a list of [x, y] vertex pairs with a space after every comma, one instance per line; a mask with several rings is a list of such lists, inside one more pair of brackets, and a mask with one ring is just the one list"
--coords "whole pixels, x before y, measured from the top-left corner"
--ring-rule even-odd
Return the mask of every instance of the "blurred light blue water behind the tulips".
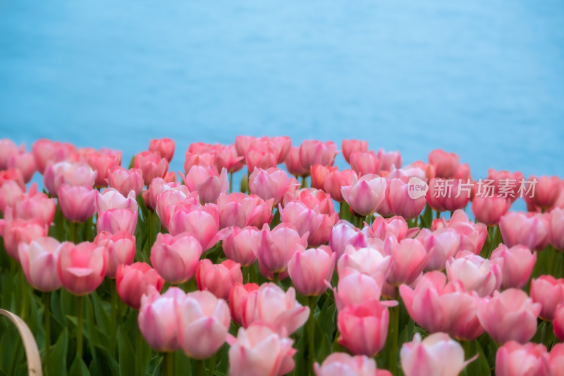
[[[564, 1], [0, 0], [0, 138], [436, 147], [564, 177]], [[338, 164], [344, 166], [342, 157]]]

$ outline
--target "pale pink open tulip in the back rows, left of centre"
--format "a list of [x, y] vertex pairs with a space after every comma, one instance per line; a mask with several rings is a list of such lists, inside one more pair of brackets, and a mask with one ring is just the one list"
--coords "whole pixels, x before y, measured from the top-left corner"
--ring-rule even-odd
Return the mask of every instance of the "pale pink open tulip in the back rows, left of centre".
[[197, 191], [202, 203], [216, 202], [228, 189], [227, 170], [219, 174], [214, 166], [192, 166], [182, 179], [190, 192]]

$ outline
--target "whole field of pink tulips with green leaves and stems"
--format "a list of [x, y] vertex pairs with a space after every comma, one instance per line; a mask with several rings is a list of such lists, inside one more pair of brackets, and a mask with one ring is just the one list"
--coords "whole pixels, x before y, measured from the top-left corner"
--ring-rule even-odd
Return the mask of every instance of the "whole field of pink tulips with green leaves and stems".
[[564, 375], [564, 181], [422, 157], [0, 140], [0, 376]]

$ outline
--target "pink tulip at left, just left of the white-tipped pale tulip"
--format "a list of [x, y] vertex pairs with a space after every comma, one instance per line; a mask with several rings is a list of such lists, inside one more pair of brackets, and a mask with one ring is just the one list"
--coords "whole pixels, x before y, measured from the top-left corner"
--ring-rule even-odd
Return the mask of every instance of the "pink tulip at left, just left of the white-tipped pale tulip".
[[70, 222], [85, 222], [96, 212], [94, 200], [97, 195], [98, 191], [92, 188], [63, 184], [59, 188], [61, 212]]

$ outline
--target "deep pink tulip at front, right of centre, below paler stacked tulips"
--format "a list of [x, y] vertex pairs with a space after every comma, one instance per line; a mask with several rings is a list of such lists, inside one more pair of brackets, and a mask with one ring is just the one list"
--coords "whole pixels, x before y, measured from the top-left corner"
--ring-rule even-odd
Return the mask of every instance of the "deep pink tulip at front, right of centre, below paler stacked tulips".
[[348, 305], [337, 315], [338, 343], [354, 355], [375, 356], [388, 334], [388, 307], [376, 299]]

